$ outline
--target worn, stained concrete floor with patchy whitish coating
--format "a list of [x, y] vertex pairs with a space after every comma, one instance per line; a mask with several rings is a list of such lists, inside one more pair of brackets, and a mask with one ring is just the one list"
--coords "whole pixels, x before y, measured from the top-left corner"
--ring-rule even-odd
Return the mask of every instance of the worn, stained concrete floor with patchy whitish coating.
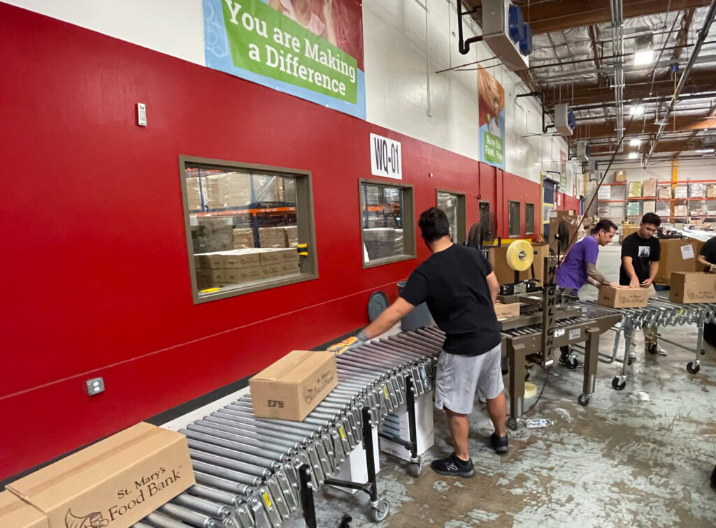
[[[618, 245], [602, 248], [597, 263], [613, 280], [619, 250]], [[596, 298], [594, 288], [589, 293]], [[668, 328], [664, 336], [695, 346], [695, 327]], [[611, 353], [613, 343], [609, 332], [601, 351]], [[351, 528], [716, 526], [716, 492], [709, 485], [716, 464], [715, 351], [705, 347], [701, 371], [692, 376], [685, 366], [693, 353], [664, 348], [668, 356], [645, 358], [639, 333], [639, 358], [621, 392], [611, 388], [621, 364], [600, 363], [588, 407], [576, 403], [582, 371], [555, 367], [558, 376], [548, 379], [529, 414], [555, 424], [548, 429], [521, 424], [501, 458], [488, 446], [491, 424], [476, 402], [470, 416], [470, 454], [477, 471], [472, 479], [430, 469], [432, 459], [452, 451], [445, 416], [436, 411], [435, 446], [424, 455], [420, 476], [408, 476], [404, 463], [381, 455], [379, 493], [391, 505], [383, 522], [367, 520], [365, 494], [350, 497], [323, 487], [316, 494], [319, 526], [338, 527], [343, 514], [354, 517]], [[544, 380], [533, 368], [538, 393]]]

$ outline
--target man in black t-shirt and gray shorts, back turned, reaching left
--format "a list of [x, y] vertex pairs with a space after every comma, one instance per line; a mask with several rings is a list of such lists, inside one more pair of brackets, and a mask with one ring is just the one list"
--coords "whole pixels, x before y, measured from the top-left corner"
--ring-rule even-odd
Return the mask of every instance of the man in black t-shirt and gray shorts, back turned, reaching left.
[[478, 250], [450, 240], [445, 212], [431, 207], [420, 215], [419, 225], [432, 255], [411, 273], [400, 297], [358, 334], [352, 347], [379, 336], [414, 306], [427, 303], [446, 334], [435, 374], [435, 407], [448, 415], [455, 448], [448, 458], [433, 461], [432, 469], [442, 475], [469, 477], [475, 468], [468, 453], [468, 415], [476, 391], [487, 401], [495, 426], [493, 448], [498, 454], [508, 451], [502, 337], [494, 308], [500, 286]]

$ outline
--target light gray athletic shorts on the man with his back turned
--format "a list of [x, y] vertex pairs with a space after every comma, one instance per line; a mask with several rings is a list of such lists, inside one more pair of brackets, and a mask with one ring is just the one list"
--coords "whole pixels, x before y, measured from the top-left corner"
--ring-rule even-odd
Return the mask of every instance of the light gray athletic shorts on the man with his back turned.
[[437, 359], [435, 407], [458, 414], [473, 411], [475, 391], [491, 400], [505, 388], [502, 381], [502, 343], [480, 356], [456, 356], [445, 351]]

